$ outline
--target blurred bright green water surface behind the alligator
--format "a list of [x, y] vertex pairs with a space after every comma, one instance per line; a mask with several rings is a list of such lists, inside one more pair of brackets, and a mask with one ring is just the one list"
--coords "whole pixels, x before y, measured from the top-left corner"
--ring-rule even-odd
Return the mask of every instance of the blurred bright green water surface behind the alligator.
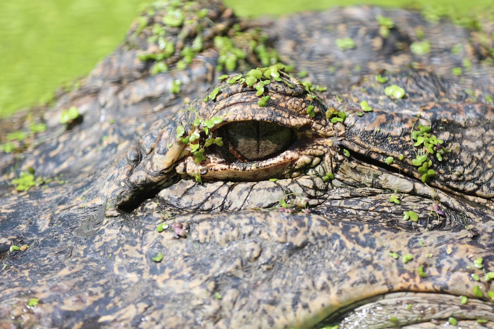
[[[87, 74], [124, 38], [143, 0], [0, 0], [0, 117], [47, 100], [58, 86]], [[377, 4], [423, 8], [430, 0], [226, 0], [247, 17]], [[435, 0], [454, 15], [492, 7], [492, 0]], [[491, 8], [492, 9], [492, 8]]]

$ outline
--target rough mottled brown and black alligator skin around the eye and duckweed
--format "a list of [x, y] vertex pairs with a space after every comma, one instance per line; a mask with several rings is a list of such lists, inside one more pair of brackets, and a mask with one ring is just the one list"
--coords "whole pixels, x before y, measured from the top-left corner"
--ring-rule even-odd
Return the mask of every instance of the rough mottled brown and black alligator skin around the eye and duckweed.
[[[450, 317], [461, 328], [493, 328], [494, 279], [485, 274], [494, 271], [494, 73], [476, 33], [404, 10], [247, 24], [219, 3], [196, 5], [187, 17], [207, 8], [205, 41], [185, 70], [176, 65], [196, 37], [190, 28], [167, 31], [165, 42], [175, 42], [168, 72], [152, 75], [154, 60], [137, 58], [159, 48], [148, 39], [166, 10], [157, 8], [80, 88], [45, 109], [46, 132], [22, 153], [2, 153], [1, 328], [433, 328]], [[395, 22], [387, 38], [379, 14]], [[256, 25], [267, 48], [328, 90], [313, 99], [284, 76], [266, 86], [263, 107], [254, 87], [223, 81], [204, 101], [222, 73], [263, 66], [246, 46], [233, 72], [218, 68], [211, 41], [237, 31], [258, 38]], [[425, 55], [410, 51], [418, 27], [431, 41]], [[341, 37], [356, 47], [339, 49]], [[472, 66], [454, 76], [462, 58]], [[377, 83], [377, 73], [388, 82]], [[406, 96], [385, 96], [390, 84]], [[359, 116], [362, 101], [373, 110]], [[70, 106], [82, 120], [67, 127], [58, 118]], [[338, 111], [347, 117], [331, 122]], [[191, 135], [193, 119], [212, 116], [223, 119], [212, 132], [225, 146], [208, 147], [196, 163], [178, 126]], [[40, 119], [2, 121], [0, 137], [32, 120]], [[228, 125], [250, 120], [288, 127], [293, 143], [239, 160]], [[412, 163], [423, 152], [412, 140], [419, 124], [448, 150], [442, 161], [431, 157], [427, 184]], [[13, 193], [8, 183], [29, 167], [59, 181]], [[408, 211], [416, 221], [403, 220]], [[157, 232], [163, 222], [170, 229]], [[9, 251], [12, 244], [29, 249]], [[39, 303], [29, 306], [33, 297]]]

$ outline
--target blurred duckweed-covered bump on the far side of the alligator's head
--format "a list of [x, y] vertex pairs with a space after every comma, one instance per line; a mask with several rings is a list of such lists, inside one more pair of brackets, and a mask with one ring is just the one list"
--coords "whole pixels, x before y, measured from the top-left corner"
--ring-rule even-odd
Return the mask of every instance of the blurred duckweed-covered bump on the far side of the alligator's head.
[[[184, 70], [197, 54], [212, 47], [219, 54], [218, 71], [236, 71], [247, 62], [269, 66], [280, 61], [267, 34], [257, 28], [243, 30], [233, 16], [215, 24], [212, 18], [218, 14], [216, 8], [200, 8], [193, 1], [153, 2], [137, 18], [129, 46], [142, 49], [138, 58], [149, 63], [151, 74], [167, 72], [170, 66]], [[142, 37], [147, 47], [138, 44]]]

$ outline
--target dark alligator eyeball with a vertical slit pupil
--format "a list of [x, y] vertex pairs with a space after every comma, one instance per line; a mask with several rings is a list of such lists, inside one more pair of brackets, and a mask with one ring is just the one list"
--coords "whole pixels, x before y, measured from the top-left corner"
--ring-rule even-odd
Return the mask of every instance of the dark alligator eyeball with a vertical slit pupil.
[[295, 137], [292, 129], [273, 122], [240, 121], [222, 127], [230, 152], [241, 160], [263, 160], [283, 152]]

